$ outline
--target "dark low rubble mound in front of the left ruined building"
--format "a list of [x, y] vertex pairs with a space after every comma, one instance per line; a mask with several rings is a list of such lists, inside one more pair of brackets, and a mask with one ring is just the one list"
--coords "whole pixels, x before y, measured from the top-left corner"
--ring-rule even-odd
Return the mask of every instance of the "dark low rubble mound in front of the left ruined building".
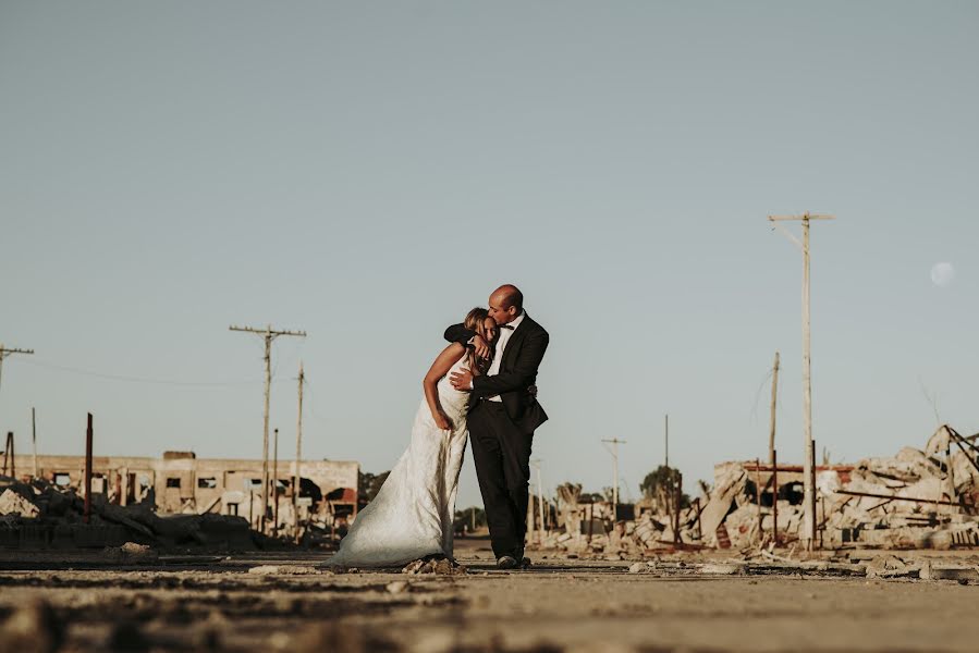
[[25, 482], [0, 476], [0, 547], [148, 545], [164, 550], [249, 551], [264, 544], [265, 538], [254, 533], [242, 517], [215, 514], [161, 517], [143, 504], [121, 506], [109, 503], [100, 494], [91, 498], [91, 515], [86, 523], [85, 502], [74, 489], [44, 479]]

